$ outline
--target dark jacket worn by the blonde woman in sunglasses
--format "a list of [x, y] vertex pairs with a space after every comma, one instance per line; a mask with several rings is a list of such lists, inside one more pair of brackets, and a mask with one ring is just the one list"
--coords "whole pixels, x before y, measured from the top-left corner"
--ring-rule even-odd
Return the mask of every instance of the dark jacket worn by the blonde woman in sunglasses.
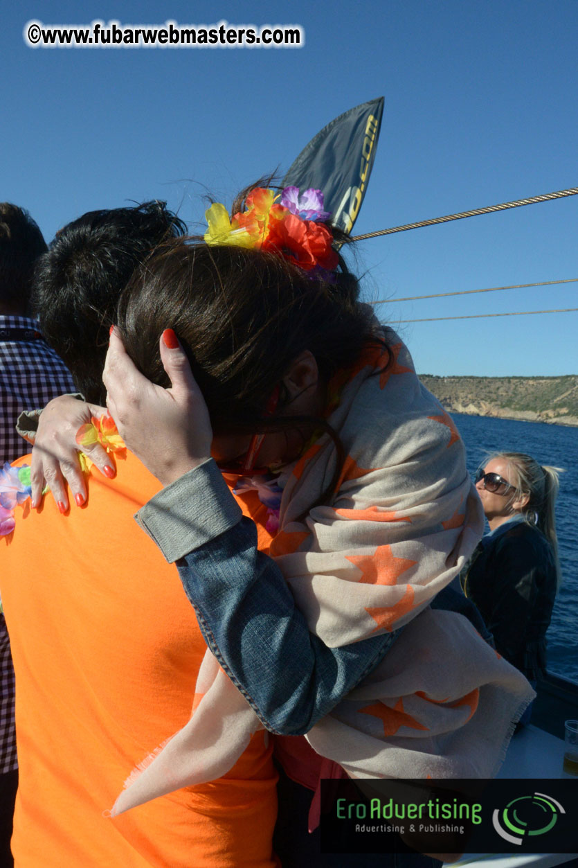
[[554, 551], [540, 530], [513, 524], [480, 543], [462, 574], [496, 649], [532, 680], [546, 670], [546, 630], [556, 594]]

